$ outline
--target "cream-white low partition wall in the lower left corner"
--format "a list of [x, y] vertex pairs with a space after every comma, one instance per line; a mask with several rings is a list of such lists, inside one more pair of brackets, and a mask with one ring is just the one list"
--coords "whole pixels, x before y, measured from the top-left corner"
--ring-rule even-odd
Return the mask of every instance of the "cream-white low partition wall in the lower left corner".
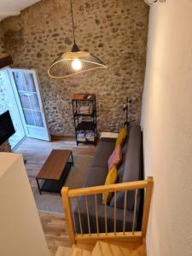
[[49, 255], [20, 154], [0, 153], [0, 255]]

